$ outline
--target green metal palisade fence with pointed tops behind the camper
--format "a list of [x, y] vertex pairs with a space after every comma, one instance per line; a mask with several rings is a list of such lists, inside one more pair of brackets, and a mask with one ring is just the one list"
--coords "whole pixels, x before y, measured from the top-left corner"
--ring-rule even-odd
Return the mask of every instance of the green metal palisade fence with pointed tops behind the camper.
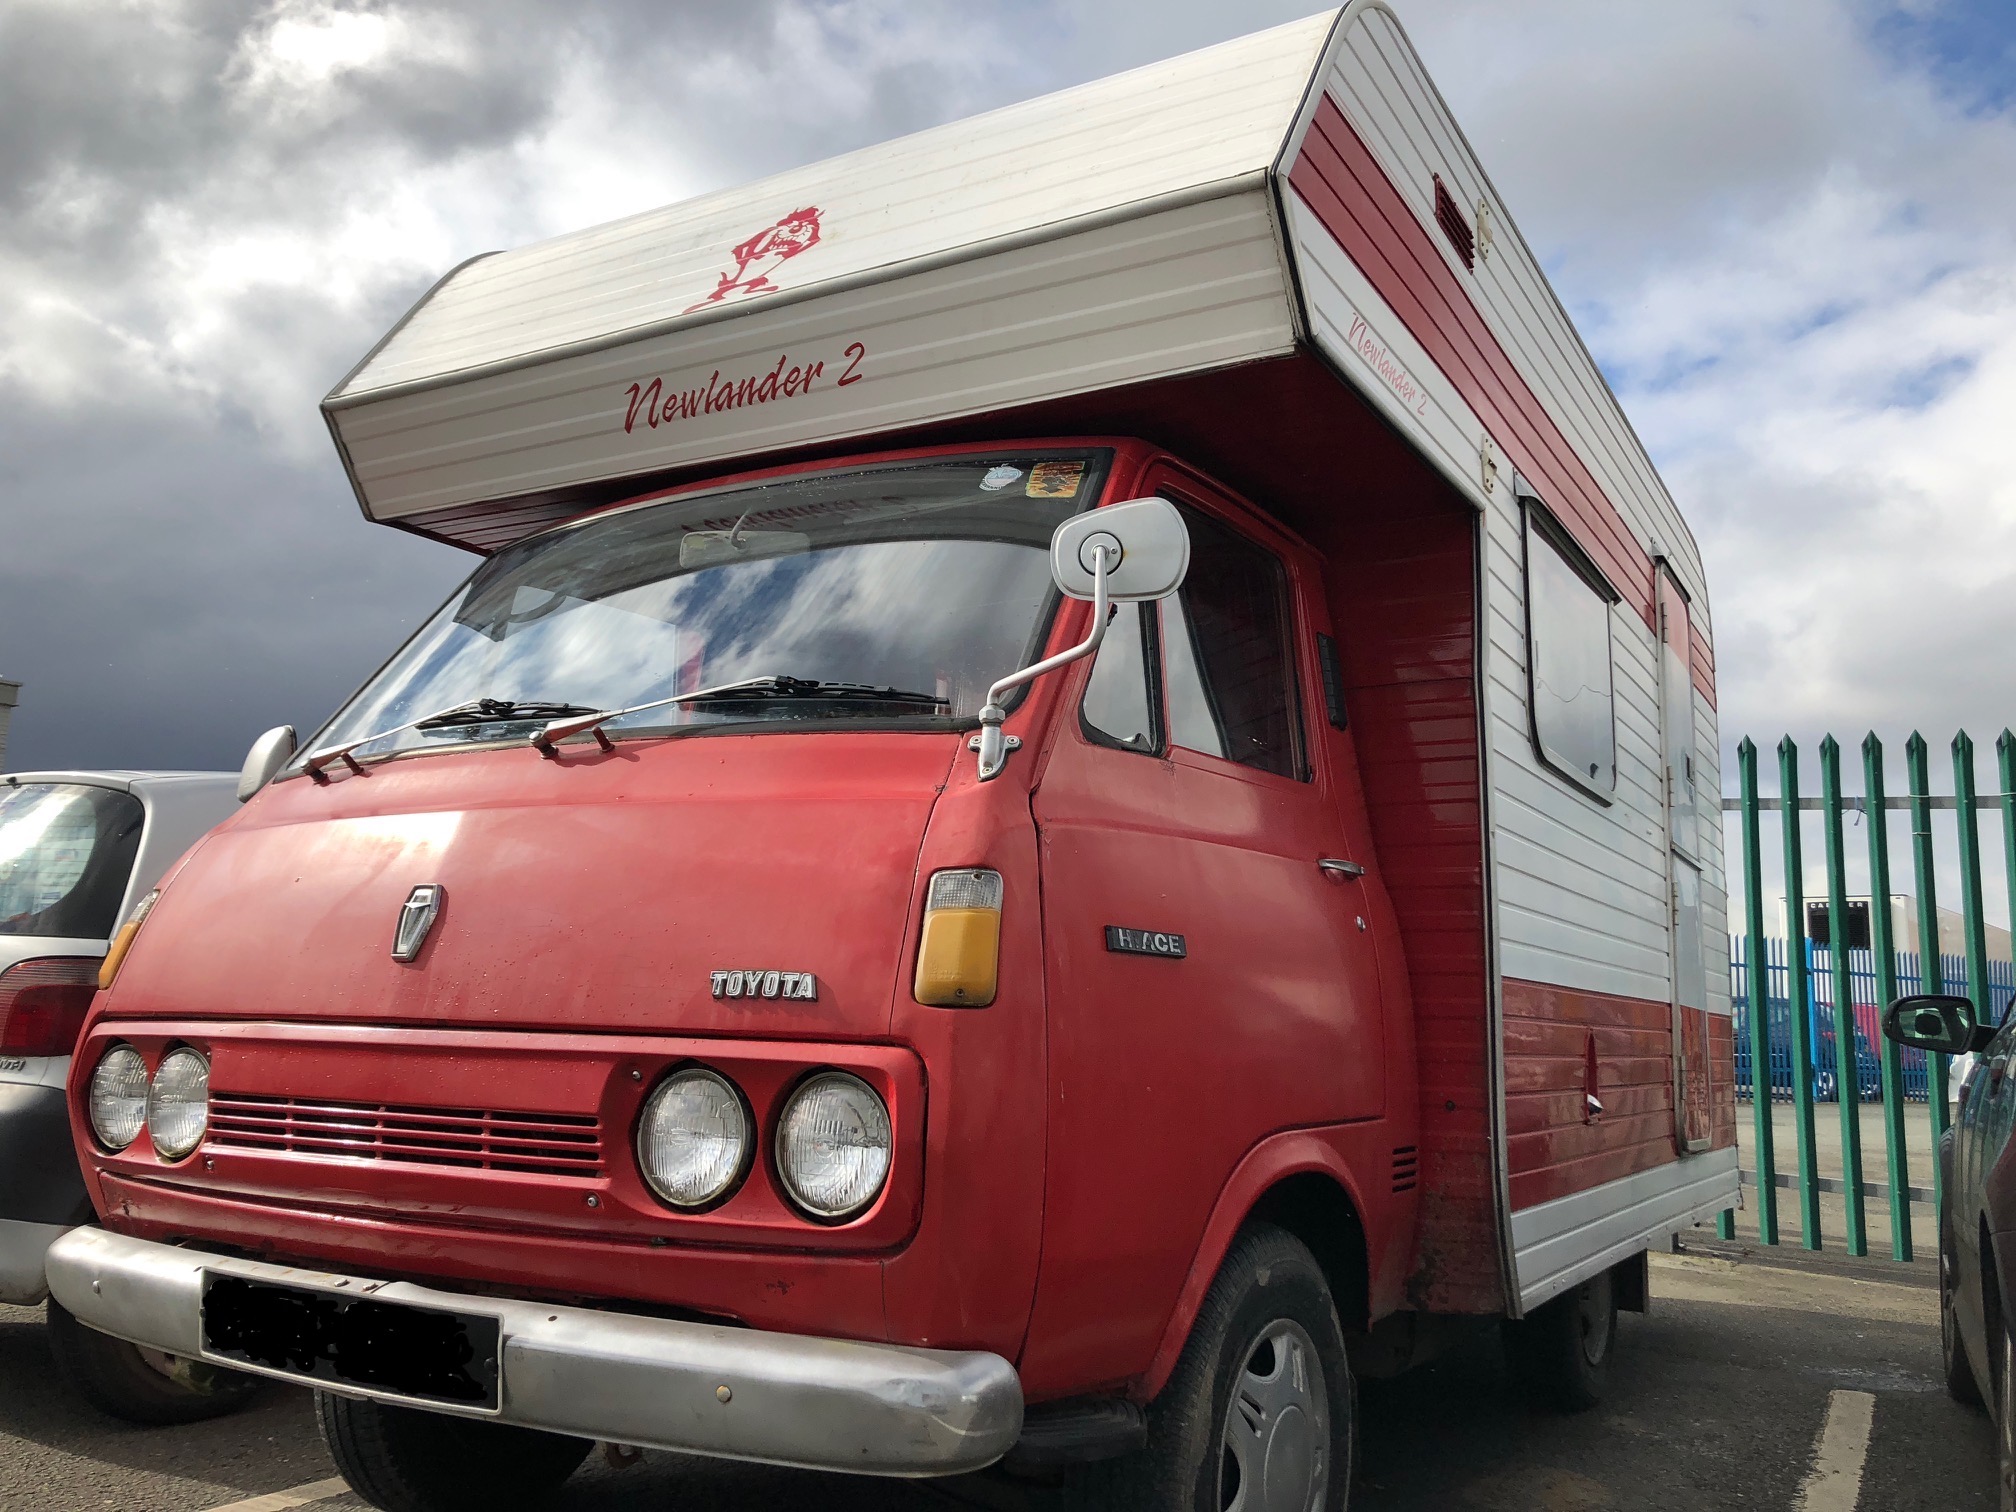
[[[1758, 748], [1744, 740], [1736, 750], [1738, 796], [1722, 806], [1736, 814], [1736, 851], [1744, 869], [1744, 909], [1730, 933], [1730, 986], [1736, 1012], [1736, 1097], [1750, 1099], [1750, 1149], [1744, 1151], [1744, 1181], [1752, 1185], [1756, 1236], [1778, 1244], [1778, 1189], [1798, 1198], [1798, 1236], [1808, 1250], [1822, 1246], [1822, 1193], [1841, 1198], [1839, 1240], [1853, 1256], [1869, 1254], [1869, 1204], [1881, 1204], [1889, 1228], [1889, 1248], [1897, 1260], [1911, 1260], [1913, 1204], [1937, 1212], [1939, 1169], [1933, 1151], [1945, 1133], [1947, 1056], [1903, 1050], [1883, 1038], [1881, 1014], [1899, 992], [1964, 992], [1976, 1012], [2000, 1020], [2016, 996], [2016, 966], [1990, 956], [1988, 919], [1982, 897], [1984, 808], [2002, 816], [2002, 877], [2010, 899], [2010, 933], [2016, 937], [2016, 736], [2008, 730], [1996, 742], [1996, 792], [1976, 790], [1974, 742], [1954, 736], [1954, 794], [1931, 792], [1931, 762], [1923, 736], [1905, 742], [1905, 796], [1889, 796], [1883, 742], [1873, 734], [1861, 742], [1861, 796], [1843, 792], [1841, 742], [1826, 736], [1818, 746], [1820, 796], [1800, 788], [1800, 752], [1786, 738], [1778, 742], [1778, 796], [1758, 792]], [[1818, 812], [1820, 853], [1826, 869], [1826, 941], [1806, 929], [1806, 835], [1802, 814]], [[1891, 833], [1889, 816], [1909, 823], [1909, 881], [1919, 950], [1901, 950], [1899, 925], [1891, 917]], [[1784, 937], [1768, 931], [1764, 907], [1764, 814], [1774, 814], [1784, 859]], [[1941, 952], [1937, 847], [1933, 821], [1951, 814], [1958, 857], [1960, 911], [1958, 950]], [[1851, 937], [1851, 903], [1863, 893], [1849, 885], [1849, 833], [1861, 827], [1869, 861], [1869, 941]], [[1949, 873], [1954, 875], [1954, 873]], [[1732, 925], [1738, 923], [1732, 919]], [[1909, 927], [1905, 925], [1909, 931]], [[1847, 943], [1843, 943], [1847, 941]], [[1820, 1105], [1835, 1103], [1839, 1175], [1820, 1171]], [[1913, 1115], [1911, 1105], [1925, 1113]], [[1881, 1105], [1873, 1125], [1863, 1123], [1863, 1107]], [[1790, 1127], [1780, 1127], [1784, 1117]], [[1917, 1165], [1927, 1181], [1913, 1185], [1911, 1127], [1921, 1127]], [[1792, 1169], [1778, 1169], [1778, 1149], [1786, 1135]], [[1865, 1139], [1877, 1139], [1881, 1179], [1865, 1179]], [[1720, 1232], [1738, 1232], [1734, 1212], [1722, 1216]]]

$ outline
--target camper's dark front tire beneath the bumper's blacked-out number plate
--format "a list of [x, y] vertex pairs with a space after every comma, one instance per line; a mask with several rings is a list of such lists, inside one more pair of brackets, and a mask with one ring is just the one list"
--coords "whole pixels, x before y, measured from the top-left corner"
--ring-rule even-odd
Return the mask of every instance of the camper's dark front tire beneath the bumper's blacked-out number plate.
[[314, 1421], [351, 1490], [383, 1512], [544, 1506], [589, 1439], [314, 1393]]

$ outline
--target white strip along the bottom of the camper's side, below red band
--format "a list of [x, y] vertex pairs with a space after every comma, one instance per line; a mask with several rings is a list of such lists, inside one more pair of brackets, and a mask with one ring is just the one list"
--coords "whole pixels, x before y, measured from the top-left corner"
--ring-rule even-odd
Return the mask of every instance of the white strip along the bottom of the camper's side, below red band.
[[1736, 1151], [1716, 1149], [1516, 1212], [1512, 1254], [1520, 1306], [1530, 1312], [1736, 1204]]

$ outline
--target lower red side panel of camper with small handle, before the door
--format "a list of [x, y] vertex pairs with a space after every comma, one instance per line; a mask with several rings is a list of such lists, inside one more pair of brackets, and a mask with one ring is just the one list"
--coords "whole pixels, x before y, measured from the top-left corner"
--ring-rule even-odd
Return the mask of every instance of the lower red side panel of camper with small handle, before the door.
[[1504, 1040], [1514, 1212], [1679, 1157], [1671, 1004], [1506, 978]]

